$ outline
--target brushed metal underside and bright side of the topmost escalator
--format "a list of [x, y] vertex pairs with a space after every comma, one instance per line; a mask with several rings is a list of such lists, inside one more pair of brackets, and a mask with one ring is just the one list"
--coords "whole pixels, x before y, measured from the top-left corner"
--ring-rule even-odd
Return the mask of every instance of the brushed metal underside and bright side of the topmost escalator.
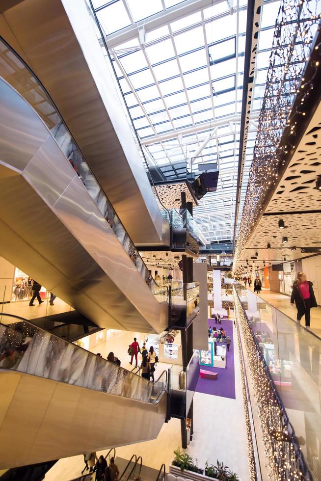
[[162, 217], [85, 2], [63, 3], [7, 5], [5, 38], [14, 34], [133, 241], [160, 244]]

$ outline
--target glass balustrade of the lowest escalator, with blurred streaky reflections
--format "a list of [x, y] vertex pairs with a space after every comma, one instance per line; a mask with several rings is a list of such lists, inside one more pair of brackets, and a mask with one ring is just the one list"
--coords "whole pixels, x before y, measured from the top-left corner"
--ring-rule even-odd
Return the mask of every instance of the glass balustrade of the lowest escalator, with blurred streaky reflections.
[[158, 402], [166, 390], [166, 371], [152, 383], [30, 322], [17, 324], [16, 318], [4, 316], [1, 320], [0, 369], [144, 402]]

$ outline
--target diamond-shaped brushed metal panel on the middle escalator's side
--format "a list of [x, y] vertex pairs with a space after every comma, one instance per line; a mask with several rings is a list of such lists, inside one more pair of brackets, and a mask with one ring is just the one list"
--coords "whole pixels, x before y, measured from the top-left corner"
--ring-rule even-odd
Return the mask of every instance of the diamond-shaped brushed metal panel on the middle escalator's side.
[[24, 177], [53, 206], [76, 177], [53, 137], [49, 136], [23, 171]]

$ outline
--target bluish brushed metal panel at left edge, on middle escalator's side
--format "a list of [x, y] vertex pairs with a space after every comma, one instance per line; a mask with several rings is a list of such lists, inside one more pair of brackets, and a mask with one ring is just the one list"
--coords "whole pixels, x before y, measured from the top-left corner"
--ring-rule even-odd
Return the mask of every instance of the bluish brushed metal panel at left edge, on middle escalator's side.
[[0, 79], [0, 160], [23, 170], [49, 135], [40, 123], [33, 109]]

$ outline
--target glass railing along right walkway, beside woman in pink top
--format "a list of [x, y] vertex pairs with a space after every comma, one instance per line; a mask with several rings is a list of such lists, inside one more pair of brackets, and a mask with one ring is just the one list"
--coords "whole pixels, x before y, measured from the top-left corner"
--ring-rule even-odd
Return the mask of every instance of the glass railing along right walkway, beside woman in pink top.
[[[245, 327], [250, 330], [271, 379], [271, 396], [279, 408], [282, 432], [293, 443], [291, 449], [301, 463], [299, 469], [306, 469], [304, 459], [300, 460], [303, 454], [313, 478], [320, 480], [321, 340], [259, 295], [240, 284], [235, 288], [240, 309], [246, 316]], [[277, 426], [275, 413], [270, 415], [268, 422], [273, 433]], [[307, 471], [302, 479], [311, 479], [310, 473]]]

